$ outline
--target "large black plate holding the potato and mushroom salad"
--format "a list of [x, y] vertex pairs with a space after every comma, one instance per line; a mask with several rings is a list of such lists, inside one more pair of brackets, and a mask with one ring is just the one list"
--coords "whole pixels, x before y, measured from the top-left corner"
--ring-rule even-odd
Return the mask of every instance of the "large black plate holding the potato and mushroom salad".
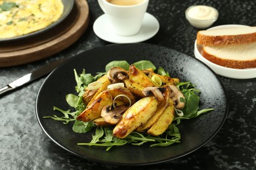
[[[74, 69], [81, 73], [95, 75], [104, 72], [105, 65], [113, 60], [126, 60], [129, 63], [148, 59], [161, 66], [173, 77], [181, 81], [191, 81], [202, 90], [200, 109], [214, 108], [202, 116], [184, 120], [179, 125], [181, 143], [167, 147], [148, 147], [148, 145], [125, 145], [106, 148], [97, 146], [77, 146], [77, 143], [91, 141], [92, 133], [78, 134], [72, 131], [72, 124], [64, 125], [43, 116], [62, 114], [53, 111], [53, 106], [70, 109], [65, 96], [75, 93]], [[218, 76], [198, 59], [170, 48], [152, 44], [112, 44], [83, 52], [55, 69], [43, 82], [36, 100], [36, 114], [43, 131], [60, 147], [68, 152], [101, 163], [117, 165], [146, 165], [174, 160], [203, 146], [211, 140], [223, 125], [227, 114], [227, 97]]]

